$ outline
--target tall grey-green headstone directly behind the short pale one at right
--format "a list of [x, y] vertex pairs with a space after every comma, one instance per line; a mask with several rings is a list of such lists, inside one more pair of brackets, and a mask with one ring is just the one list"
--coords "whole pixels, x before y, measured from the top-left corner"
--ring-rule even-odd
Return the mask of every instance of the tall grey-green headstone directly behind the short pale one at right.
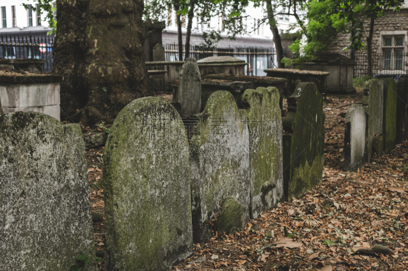
[[[382, 154], [382, 112], [384, 107], [383, 87], [384, 82], [378, 79], [368, 80], [363, 91], [363, 107], [367, 114], [366, 144], [364, 160], [371, 161], [375, 145], [379, 145], [375, 152], [377, 157]], [[373, 146], [373, 140], [376, 144]]]

